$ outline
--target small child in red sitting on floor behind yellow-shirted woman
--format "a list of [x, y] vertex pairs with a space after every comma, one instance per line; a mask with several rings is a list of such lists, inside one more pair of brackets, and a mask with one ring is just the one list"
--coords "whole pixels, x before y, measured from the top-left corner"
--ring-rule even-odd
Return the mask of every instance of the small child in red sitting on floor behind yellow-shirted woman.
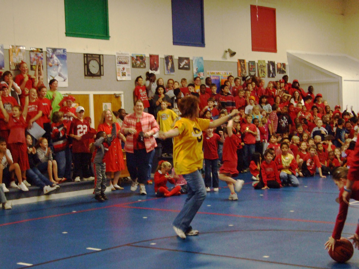
[[155, 181], [155, 193], [157, 197], [170, 197], [172, 195], [180, 195], [181, 186], [177, 185], [171, 191], [168, 190], [166, 186], [167, 181], [174, 184], [175, 180], [168, 174], [171, 171], [171, 164], [168, 161], [159, 161], [156, 169], [156, 173], [154, 174]]

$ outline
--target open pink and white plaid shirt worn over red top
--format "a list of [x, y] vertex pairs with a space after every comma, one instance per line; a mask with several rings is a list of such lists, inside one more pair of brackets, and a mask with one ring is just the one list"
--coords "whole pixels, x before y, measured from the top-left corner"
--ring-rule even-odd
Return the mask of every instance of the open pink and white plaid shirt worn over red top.
[[[125, 119], [123, 119], [121, 132], [125, 134], [124, 130], [125, 128], [134, 128], [136, 129], [136, 122], [137, 117], [135, 113], [128, 114]], [[142, 131], [151, 133], [157, 133], [159, 131], [159, 126], [155, 120], [155, 117], [149, 113], [142, 112], [142, 115], [140, 117], [140, 122], [142, 126]], [[144, 138], [145, 141], [145, 147], [146, 152], [150, 152], [151, 150], [154, 150], [155, 147], [157, 147], [156, 140], [153, 136], [150, 136], [148, 138]], [[134, 153], [134, 138], [133, 135], [128, 134], [126, 136], [126, 143], [125, 143], [125, 151]]]

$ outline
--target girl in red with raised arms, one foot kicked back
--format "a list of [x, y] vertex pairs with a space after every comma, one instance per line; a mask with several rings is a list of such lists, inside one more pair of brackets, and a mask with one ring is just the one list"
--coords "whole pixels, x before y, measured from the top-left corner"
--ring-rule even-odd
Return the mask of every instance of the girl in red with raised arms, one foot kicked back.
[[[238, 200], [237, 193], [240, 192], [244, 184], [244, 180], [234, 180], [232, 177], [238, 175], [237, 170], [237, 147], [239, 145], [239, 138], [233, 134], [233, 119], [227, 123], [227, 128], [224, 129], [224, 143], [223, 143], [223, 165], [219, 168], [219, 179], [227, 183], [230, 190], [228, 200]], [[234, 131], [236, 132], [236, 131]]]

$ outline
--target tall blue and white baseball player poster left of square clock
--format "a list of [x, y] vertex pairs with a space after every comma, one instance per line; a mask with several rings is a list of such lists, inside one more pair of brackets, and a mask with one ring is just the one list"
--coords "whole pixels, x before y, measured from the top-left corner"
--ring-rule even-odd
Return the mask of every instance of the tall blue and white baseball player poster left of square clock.
[[47, 83], [52, 79], [59, 87], [69, 86], [67, 81], [67, 52], [65, 48], [46, 48]]

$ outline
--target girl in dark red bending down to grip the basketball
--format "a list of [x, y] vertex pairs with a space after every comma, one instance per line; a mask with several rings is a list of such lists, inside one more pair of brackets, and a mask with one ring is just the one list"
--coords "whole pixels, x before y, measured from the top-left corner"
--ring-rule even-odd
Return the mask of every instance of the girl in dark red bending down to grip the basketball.
[[[346, 220], [346, 214], [348, 213], [349, 204], [343, 200], [342, 194], [348, 192], [345, 184], [347, 183], [347, 175], [348, 168], [347, 167], [338, 167], [333, 172], [333, 180], [335, 185], [338, 186], [339, 189], [339, 212], [335, 221], [335, 226], [332, 235], [329, 237], [329, 240], [325, 243], [325, 248], [328, 251], [334, 250], [334, 245], [336, 240], [340, 239], [341, 232], [344, 227], [344, 223]], [[349, 198], [354, 200], [359, 200], [359, 181], [354, 181], [354, 184], [351, 186], [351, 190], [349, 192]], [[348, 199], [349, 200], [349, 199]], [[356, 227], [355, 235], [349, 237], [349, 239], [353, 240], [353, 244], [356, 248], [359, 248], [359, 226]]]

